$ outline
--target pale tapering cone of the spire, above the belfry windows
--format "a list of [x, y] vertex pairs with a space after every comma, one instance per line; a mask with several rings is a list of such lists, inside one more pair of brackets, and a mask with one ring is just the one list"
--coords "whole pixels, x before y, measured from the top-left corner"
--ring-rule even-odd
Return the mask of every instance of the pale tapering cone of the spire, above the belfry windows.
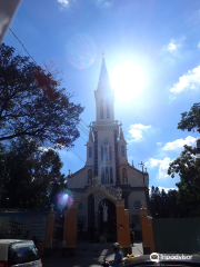
[[99, 82], [97, 90], [111, 90], [110, 80], [107, 71], [107, 67], [104, 63], [104, 53], [102, 52], [102, 63], [101, 71], [99, 76]]

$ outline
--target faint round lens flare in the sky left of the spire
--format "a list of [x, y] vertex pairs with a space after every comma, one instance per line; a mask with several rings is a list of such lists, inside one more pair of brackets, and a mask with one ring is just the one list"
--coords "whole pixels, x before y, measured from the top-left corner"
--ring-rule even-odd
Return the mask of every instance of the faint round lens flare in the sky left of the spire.
[[68, 61], [77, 69], [86, 69], [96, 60], [97, 48], [92, 39], [78, 33], [67, 43]]

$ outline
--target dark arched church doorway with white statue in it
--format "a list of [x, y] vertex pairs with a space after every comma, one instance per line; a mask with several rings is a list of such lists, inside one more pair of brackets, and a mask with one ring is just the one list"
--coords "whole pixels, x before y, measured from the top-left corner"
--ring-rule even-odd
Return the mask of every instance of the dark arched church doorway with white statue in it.
[[[103, 216], [103, 207], [107, 207], [107, 220]], [[116, 205], [103, 198], [99, 204], [99, 230], [100, 234], [107, 235], [107, 241], [116, 241], [117, 240], [117, 217], [116, 217]]]

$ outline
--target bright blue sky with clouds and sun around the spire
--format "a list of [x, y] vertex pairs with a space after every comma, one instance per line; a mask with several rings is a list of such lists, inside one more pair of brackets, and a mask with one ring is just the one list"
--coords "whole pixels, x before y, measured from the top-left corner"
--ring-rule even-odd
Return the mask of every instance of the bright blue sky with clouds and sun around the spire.
[[[39, 65], [52, 61], [62, 71], [62, 87], [86, 107], [87, 126], [96, 120], [104, 51], [129, 162], [146, 162], [150, 186], [176, 188], [179, 177], [167, 176], [169, 162], [198, 137], [177, 125], [199, 99], [200, 1], [23, 0], [10, 28]], [[4, 42], [27, 56], [10, 31]], [[84, 166], [84, 123], [73, 152], [60, 152], [67, 175]]]

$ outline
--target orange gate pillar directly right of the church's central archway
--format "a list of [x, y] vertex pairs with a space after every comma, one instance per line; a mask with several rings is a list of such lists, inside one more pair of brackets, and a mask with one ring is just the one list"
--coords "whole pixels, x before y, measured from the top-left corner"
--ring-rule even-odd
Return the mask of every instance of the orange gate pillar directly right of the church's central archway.
[[117, 214], [117, 238], [123, 256], [131, 254], [129, 210], [124, 210], [124, 199], [118, 199], [116, 202]]

